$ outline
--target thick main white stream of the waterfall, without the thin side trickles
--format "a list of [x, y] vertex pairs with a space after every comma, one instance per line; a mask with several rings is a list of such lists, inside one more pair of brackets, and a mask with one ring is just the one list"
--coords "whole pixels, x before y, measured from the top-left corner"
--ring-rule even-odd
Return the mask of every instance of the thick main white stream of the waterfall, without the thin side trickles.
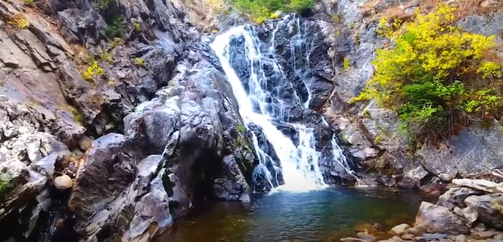
[[[247, 94], [230, 65], [229, 43], [233, 35], [242, 35], [245, 40], [246, 57], [251, 63], [251, 75], [249, 80], [249, 94]], [[266, 138], [273, 145], [278, 158], [281, 162], [283, 178], [285, 185], [278, 189], [285, 191], [309, 191], [323, 188], [326, 184], [317, 165], [318, 154], [314, 150], [313, 130], [303, 125], [294, 124], [293, 126], [299, 132], [300, 144], [295, 146], [293, 142], [279, 131], [272, 123], [272, 113], [266, 111], [265, 98], [266, 93], [259, 84], [259, 77], [255, 72], [257, 68], [254, 63], [260, 63], [260, 52], [255, 45], [254, 37], [248, 33], [243, 26], [235, 27], [217, 36], [211, 44], [220, 59], [221, 65], [232, 86], [234, 96], [239, 105], [239, 114], [246, 127], [251, 123], [262, 128]], [[278, 71], [281, 71], [278, 68]], [[261, 106], [261, 112], [253, 110], [252, 101], [257, 101]], [[257, 142], [255, 148], [259, 153], [264, 153]], [[259, 156], [264, 154], [259, 154]], [[311, 166], [313, 164], [313, 166]], [[314, 169], [311, 169], [314, 167]]]

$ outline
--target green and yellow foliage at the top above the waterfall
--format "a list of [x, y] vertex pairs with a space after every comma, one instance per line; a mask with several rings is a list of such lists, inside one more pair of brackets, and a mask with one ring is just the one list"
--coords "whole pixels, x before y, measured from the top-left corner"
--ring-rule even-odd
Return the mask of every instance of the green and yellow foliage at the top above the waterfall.
[[230, 0], [230, 3], [258, 24], [279, 18], [276, 11], [303, 13], [315, 6], [313, 0]]

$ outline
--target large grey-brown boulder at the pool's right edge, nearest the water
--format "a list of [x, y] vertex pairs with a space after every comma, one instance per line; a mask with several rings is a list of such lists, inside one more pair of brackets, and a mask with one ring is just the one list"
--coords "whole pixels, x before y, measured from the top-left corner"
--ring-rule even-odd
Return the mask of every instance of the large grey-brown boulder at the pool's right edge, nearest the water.
[[471, 227], [466, 218], [459, 217], [446, 207], [429, 202], [421, 203], [415, 224], [425, 226], [430, 232], [449, 234], [467, 233]]

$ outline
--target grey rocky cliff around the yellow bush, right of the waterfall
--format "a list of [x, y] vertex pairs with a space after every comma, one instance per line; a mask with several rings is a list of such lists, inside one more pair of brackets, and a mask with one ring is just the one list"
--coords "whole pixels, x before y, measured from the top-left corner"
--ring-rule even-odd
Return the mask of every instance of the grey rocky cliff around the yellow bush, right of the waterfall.
[[[453, 3], [456, 5], [456, 3]], [[406, 18], [415, 8], [434, 7], [427, 1], [322, 1], [314, 17], [325, 35], [328, 55], [336, 75], [336, 85], [325, 105], [324, 114], [339, 132], [343, 147], [366, 171], [362, 182], [426, 190], [453, 178], [484, 174], [503, 165], [501, 125], [494, 120], [490, 127], [469, 127], [439, 147], [424, 145], [409, 148], [397, 132], [395, 113], [379, 108], [375, 103], [349, 104], [374, 72], [371, 61], [375, 50], [388, 46], [376, 34], [377, 22], [383, 17]], [[473, 2], [459, 6], [459, 26], [487, 36], [495, 35], [502, 43], [503, 15], [501, 3]], [[503, 50], [499, 50], [503, 56]], [[350, 66], [343, 70], [344, 58]]]

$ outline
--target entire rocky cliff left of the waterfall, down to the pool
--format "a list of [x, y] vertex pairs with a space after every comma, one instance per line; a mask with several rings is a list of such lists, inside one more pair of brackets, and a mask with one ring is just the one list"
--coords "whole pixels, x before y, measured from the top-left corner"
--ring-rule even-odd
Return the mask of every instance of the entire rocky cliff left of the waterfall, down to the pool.
[[34, 4], [0, 2], [0, 240], [143, 241], [249, 201], [257, 158], [193, 5]]

